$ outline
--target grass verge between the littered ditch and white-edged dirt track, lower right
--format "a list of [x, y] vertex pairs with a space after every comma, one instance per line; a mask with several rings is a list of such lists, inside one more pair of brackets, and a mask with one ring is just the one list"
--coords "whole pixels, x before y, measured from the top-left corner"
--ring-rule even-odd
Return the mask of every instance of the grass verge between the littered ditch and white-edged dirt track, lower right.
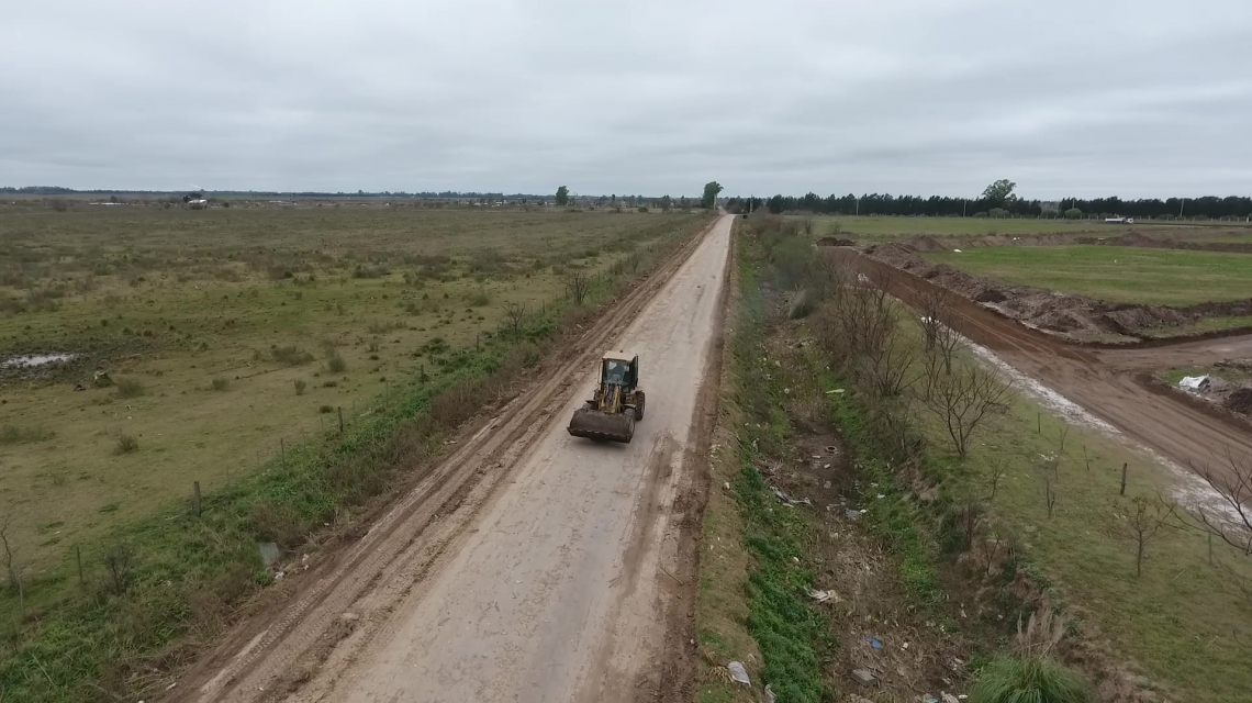
[[[1042, 426], [1043, 431], [1039, 432]], [[1143, 576], [1134, 555], [1107, 531], [1118, 499], [1122, 464], [1129, 465], [1127, 495], [1169, 495], [1177, 479], [1102, 432], [1065, 425], [1028, 398], [979, 435], [964, 461], [942, 450], [933, 470], [957, 490], [990, 495], [990, 475], [1003, 466], [990, 500], [999, 529], [1013, 535], [1029, 564], [1059, 595], [1084, 610], [1123, 657], [1153, 680], [1187, 692], [1188, 700], [1234, 700], [1252, 687], [1241, 642], [1252, 640], [1252, 603], [1222, 570], [1208, 564], [1208, 541], [1194, 531], [1172, 531], [1153, 544]], [[942, 447], [942, 430], [925, 417], [928, 445]], [[1040, 455], [1059, 455], [1053, 518], [1048, 518]], [[1088, 464], [1090, 469], [1087, 469]], [[960, 487], [964, 486], [964, 487]], [[1223, 545], [1216, 559], [1243, 578], [1252, 564]]]

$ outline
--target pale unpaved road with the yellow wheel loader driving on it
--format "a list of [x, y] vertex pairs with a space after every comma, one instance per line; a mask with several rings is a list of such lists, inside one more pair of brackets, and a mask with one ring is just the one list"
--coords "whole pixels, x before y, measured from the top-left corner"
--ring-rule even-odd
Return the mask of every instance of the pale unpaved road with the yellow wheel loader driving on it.
[[[173, 698], [669, 695], [686, 648], [731, 222], [622, 301], [581, 355], [466, 437], [287, 603], [238, 628]], [[565, 430], [608, 347], [641, 360], [647, 415], [630, 445]]]

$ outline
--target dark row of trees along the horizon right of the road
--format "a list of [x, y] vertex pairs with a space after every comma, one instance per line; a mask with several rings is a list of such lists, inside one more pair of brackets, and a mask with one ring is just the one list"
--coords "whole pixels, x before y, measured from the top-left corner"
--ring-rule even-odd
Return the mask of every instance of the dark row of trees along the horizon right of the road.
[[[769, 208], [772, 213], [811, 212], [820, 214], [876, 214], [913, 217], [1063, 217], [1065, 211], [1088, 214], [1118, 214], [1137, 218], [1198, 217], [1209, 219], [1252, 217], [1252, 198], [1208, 195], [1203, 198], [1065, 198], [1058, 202], [1032, 200], [1013, 193], [1015, 183], [997, 180], [977, 198], [948, 195], [891, 195], [870, 193], [865, 195], [826, 195], [808, 193], [801, 197], [774, 195], [772, 198], [731, 198], [726, 207], [731, 212], [751, 212]], [[997, 212], [999, 211], [999, 212]]]

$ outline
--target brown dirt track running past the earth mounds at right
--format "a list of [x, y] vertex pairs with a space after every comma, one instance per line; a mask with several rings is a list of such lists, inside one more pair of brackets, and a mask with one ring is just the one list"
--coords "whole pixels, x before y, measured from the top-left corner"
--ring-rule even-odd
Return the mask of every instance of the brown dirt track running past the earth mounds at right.
[[[826, 256], [889, 281], [909, 305], [934, 284], [849, 248]], [[978, 303], [952, 296], [953, 326], [974, 343], [1134, 437], [1178, 466], [1218, 464], [1226, 447], [1252, 454], [1246, 424], [1209, 409], [1179, 402], [1146, 382], [1143, 372], [1184, 363], [1246, 356], [1252, 336], [1187, 342], [1141, 350], [1090, 350], [1063, 343]], [[1186, 361], [1184, 361], [1186, 360]]]

